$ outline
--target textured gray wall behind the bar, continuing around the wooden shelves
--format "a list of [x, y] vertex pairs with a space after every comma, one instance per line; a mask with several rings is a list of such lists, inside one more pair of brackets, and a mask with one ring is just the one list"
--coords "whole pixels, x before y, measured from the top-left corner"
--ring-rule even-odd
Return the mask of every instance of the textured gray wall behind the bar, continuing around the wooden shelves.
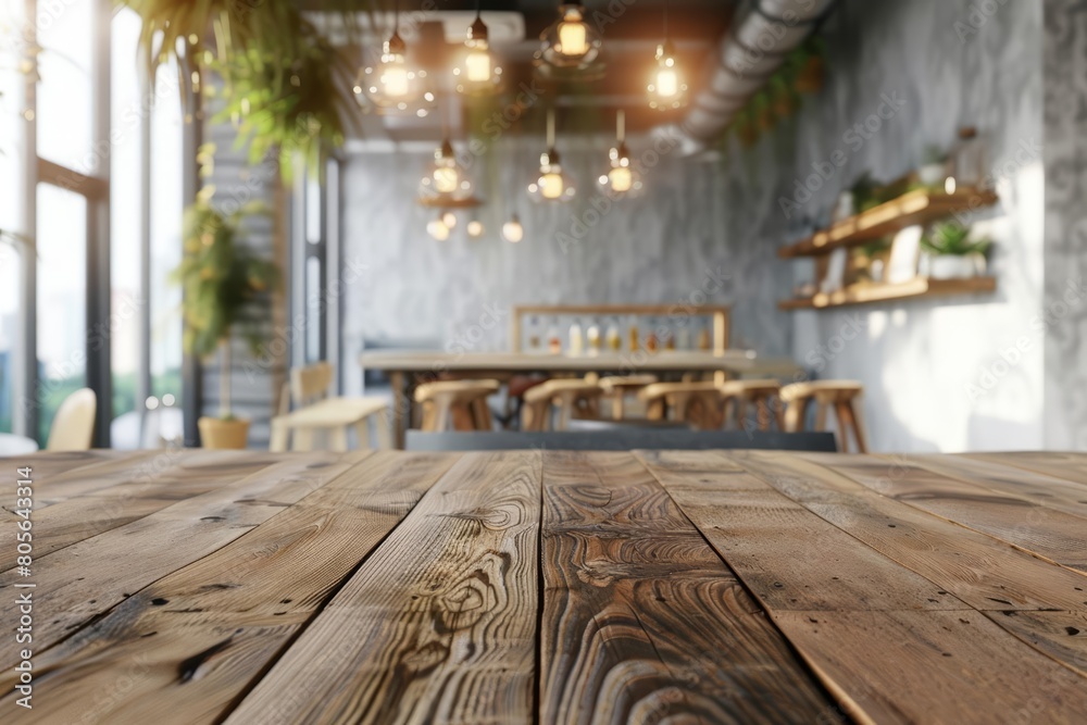
[[[978, 5], [991, 13], [972, 10]], [[1042, 447], [1044, 348], [1057, 342], [1044, 341], [1036, 324], [1045, 289], [1055, 289], [1046, 285], [1042, 255], [1041, 3], [842, 0], [825, 33], [827, 86], [805, 100], [798, 117], [724, 162], [669, 155], [652, 170], [645, 199], [605, 214], [569, 254], [557, 235], [570, 233], [584, 207], [534, 208], [523, 193], [541, 139], [502, 139], [483, 164], [488, 232], [478, 241], [464, 238], [463, 216], [450, 241], [426, 236], [428, 213], [412, 203], [425, 153], [351, 157], [346, 255], [368, 270], [346, 299], [346, 370], [358, 370], [363, 339], [451, 345], [473, 326], [490, 327], [488, 309], [516, 302], [672, 302], [700, 285], [708, 267], [720, 266], [732, 275], [716, 301], [734, 304], [733, 343], [791, 353], [822, 377], [862, 380], [876, 450]], [[885, 98], [904, 103], [863, 142], [847, 136]], [[803, 233], [799, 217], [824, 216], [864, 171], [882, 179], [909, 172], [925, 146], [948, 146], [966, 125], [982, 129], [1000, 170], [1000, 205], [975, 215], [997, 241], [996, 295], [841, 313], [776, 311], [794, 282], [812, 274], [803, 262], [790, 268], [774, 255]], [[589, 154], [560, 139], [582, 187], [599, 174], [608, 145], [599, 139]], [[636, 155], [646, 149], [633, 146]], [[787, 220], [778, 200], [838, 149], [847, 164]], [[526, 227], [517, 246], [497, 236], [511, 204]], [[483, 330], [473, 347], [504, 349], [507, 322]], [[845, 341], [841, 332], [849, 328], [861, 334]], [[1024, 350], [1010, 353], [1024, 338]], [[1051, 376], [1076, 359], [1067, 354], [1051, 360]]]

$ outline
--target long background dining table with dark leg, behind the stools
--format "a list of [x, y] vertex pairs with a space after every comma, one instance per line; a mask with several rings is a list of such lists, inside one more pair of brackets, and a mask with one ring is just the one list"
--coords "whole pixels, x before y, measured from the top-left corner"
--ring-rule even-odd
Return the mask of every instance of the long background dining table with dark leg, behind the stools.
[[802, 368], [788, 358], [760, 355], [754, 350], [728, 349], [662, 350], [658, 352], [610, 352], [596, 354], [546, 354], [526, 352], [459, 352], [421, 350], [374, 350], [359, 358], [364, 371], [386, 373], [392, 388], [392, 430], [397, 448], [404, 446], [412, 412], [412, 390], [416, 378], [441, 374], [493, 377], [513, 375], [586, 375], [588, 373], [630, 375], [634, 373], [675, 374], [721, 373], [729, 376], [792, 377]]

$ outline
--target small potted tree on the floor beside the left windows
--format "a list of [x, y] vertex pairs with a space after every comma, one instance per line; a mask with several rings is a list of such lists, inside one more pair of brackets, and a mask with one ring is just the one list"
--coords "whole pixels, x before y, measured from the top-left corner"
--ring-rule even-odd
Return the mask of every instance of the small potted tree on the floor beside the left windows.
[[185, 255], [173, 278], [184, 289], [185, 348], [201, 358], [218, 351], [220, 414], [198, 421], [205, 448], [245, 448], [249, 421], [230, 411], [230, 339], [240, 333], [254, 353], [262, 340], [261, 302], [278, 284], [276, 265], [239, 242], [242, 221], [265, 210], [259, 202], [230, 215], [215, 210], [201, 195], [185, 211]]

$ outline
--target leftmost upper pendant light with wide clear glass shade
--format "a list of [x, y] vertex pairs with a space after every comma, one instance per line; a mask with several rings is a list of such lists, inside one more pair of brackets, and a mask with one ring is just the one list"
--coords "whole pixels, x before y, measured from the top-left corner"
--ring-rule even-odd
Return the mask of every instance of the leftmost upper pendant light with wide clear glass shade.
[[434, 92], [426, 87], [426, 71], [412, 67], [407, 61], [408, 46], [400, 37], [400, 3], [395, 5], [392, 35], [385, 41], [380, 61], [359, 72], [354, 92], [363, 105], [378, 111], [415, 111], [426, 115]]

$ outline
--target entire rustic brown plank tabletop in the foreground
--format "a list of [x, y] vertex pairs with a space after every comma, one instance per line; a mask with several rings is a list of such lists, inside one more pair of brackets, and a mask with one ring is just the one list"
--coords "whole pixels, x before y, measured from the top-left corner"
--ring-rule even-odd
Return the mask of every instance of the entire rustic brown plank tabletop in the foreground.
[[1083, 453], [0, 462], [9, 725], [1087, 722]]

